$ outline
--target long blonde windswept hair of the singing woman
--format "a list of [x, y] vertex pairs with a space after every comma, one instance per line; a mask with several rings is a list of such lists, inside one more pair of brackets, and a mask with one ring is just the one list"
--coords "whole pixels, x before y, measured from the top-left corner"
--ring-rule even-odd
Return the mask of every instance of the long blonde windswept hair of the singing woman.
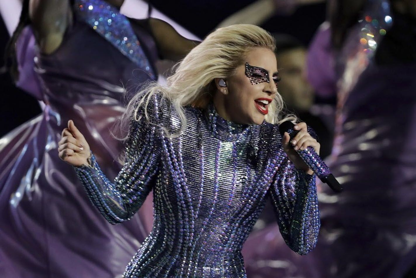
[[[245, 55], [257, 47], [275, 50], [272, 35], [258, 26], [237, 24], [215, 30], [175, 65], [174, 74], [167, 78], [166, 85], [156, 82], [145, 85], [129, 102], [124, 119], [134, 115], [135, 120], [141, 120], [137, 112], [144, 107], [146, 119], [151, 122], [147, 106], [155, 94], [161, 94], [181, 120], [177, 133], [172, 135], [165, 131], [168, 136], [179, 135], [187, 125], [184, 106], [206, 108], [216, 90], [214, 78], [232, 76], [235, 69], [245, 63]], [[294, 117], [280, 118], [283, 106], [282, 97], [277, 93], [265, 120], [269, 123], [295, 120]]]

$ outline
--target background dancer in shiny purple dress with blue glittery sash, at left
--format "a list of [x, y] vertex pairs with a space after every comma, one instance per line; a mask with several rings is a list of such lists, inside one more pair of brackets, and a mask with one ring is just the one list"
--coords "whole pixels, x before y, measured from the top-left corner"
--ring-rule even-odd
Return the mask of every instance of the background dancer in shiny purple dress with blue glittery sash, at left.
[[23, 3], [10, 71], [25, 85], [39, 82], [40, 90], [27, 89], [45, 108], [1, 140], [2, 277], [115, 277], [150, 231], [144, 217], [151, 205], [129, 223], [103, 221], [72, 168], [55, 155], [60, 131], [75, 119], [114, 177], [122, 146], [110, 129], [130, 98], [124, 87], [155, 80], [156, 60], [180, 59], [195, 45], [161, 20], [124, 17], [122, 2]]

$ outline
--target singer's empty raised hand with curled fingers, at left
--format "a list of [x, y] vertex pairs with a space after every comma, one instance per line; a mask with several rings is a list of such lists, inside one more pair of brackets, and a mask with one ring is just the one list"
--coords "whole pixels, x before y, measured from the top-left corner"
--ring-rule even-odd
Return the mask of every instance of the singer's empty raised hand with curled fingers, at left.
[[62, 130], [61, 136], [58, 143], [59, 158], [75, 167], [89, 165], [89, 145], [72, 120], [68, 121], [68, 127]]

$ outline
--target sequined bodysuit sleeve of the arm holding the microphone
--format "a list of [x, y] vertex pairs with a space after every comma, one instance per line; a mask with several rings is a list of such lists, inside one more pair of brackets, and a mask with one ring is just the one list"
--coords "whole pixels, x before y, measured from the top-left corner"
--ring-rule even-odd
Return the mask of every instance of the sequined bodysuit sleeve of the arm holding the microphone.
[[286, 244], [300, 255], [310, 252], [320, 227], [315, 175], [297, 170], [285, 155], [269, 194]]

